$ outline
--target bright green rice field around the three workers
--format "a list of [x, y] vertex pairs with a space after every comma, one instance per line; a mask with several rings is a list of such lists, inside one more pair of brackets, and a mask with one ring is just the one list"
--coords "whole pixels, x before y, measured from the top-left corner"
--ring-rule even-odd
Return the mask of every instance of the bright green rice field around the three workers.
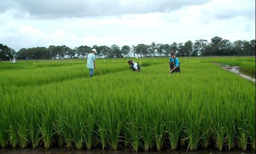
[[0, 63], [0, 147], [255, 150], [255, 83], [211, 64], [232, 58], [179, 59], [171, 76], [168, 58], [97, 59], [91, 78], [84, 60]]

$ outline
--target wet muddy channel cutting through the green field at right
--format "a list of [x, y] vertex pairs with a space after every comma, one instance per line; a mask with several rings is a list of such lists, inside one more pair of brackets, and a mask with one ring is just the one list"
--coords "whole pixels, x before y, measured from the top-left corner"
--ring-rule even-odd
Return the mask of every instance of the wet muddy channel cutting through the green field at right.
[[250, 81], [253, 81], [254, 83], [256, 83], [255, 74], [241, 70], [239, 66], [230, 66], [230, 65], [224, 65], [224, 64], [214, 63], [214, 62], [213, 62], [213, 64], [216, 64], [227, 71], [237, 74], [246, 80], [250, 80]]

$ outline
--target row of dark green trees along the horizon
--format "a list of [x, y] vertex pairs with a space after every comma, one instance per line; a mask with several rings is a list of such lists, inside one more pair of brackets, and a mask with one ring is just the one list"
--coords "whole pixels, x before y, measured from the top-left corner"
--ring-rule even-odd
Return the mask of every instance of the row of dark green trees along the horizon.
[[97, 50], [96, 56], [98, 58], [169, 56], [171, 51], [174, 51], [177, 56], [255, 56], [255, 39], [250, 42], [241, 40], [230, 42], [227, 39], [216, 36], [211, 38], [211, 42], [199, 39], [194, 43], [188, 41], [184, 44], [173, 42], [169, 45], [152, 42], [150, 45], [138, 44], [136, 46], [132, 45], [131, 47], [128, 45], [123, 45], [122, 47], [118, 45], [111, 45], [111, 47], [106, 45], [94, 45], [92, 47], [81, 45], [73, 49], [66, 45], [50, 45], [48, 48], [22, 48], [17, 52], [6, 45], [0, 44], [0, 59], [86, 58], [92, 48]]

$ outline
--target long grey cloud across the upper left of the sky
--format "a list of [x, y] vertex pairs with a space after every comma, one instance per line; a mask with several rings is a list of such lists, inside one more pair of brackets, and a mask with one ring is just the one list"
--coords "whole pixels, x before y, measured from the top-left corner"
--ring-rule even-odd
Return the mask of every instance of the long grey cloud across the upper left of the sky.
[[[209, 0], [2, 0], [0, 12], [18, 10], [34, 19], [170, 12]], [[24, 15], [25, 16], [25, 15]], [[20, 17], [20, 16], [19, 16]]]

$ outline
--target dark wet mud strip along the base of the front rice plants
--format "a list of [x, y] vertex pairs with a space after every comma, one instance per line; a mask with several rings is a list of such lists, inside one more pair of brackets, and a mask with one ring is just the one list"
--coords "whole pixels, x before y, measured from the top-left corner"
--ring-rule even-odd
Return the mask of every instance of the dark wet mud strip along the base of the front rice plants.
[[186, 149], [179, 151], [147, 151], [147, 152], [132, 152], [132, 151], [101, 151], [100, 149], [91, 150], [68, 150], [65, 148], [50, 148], [45, 149], [0, 149], [0, 154], [255, 154], [255, 151], [218, 151], [217, 149], [201, 149], [196, 151], [186, 151]]

